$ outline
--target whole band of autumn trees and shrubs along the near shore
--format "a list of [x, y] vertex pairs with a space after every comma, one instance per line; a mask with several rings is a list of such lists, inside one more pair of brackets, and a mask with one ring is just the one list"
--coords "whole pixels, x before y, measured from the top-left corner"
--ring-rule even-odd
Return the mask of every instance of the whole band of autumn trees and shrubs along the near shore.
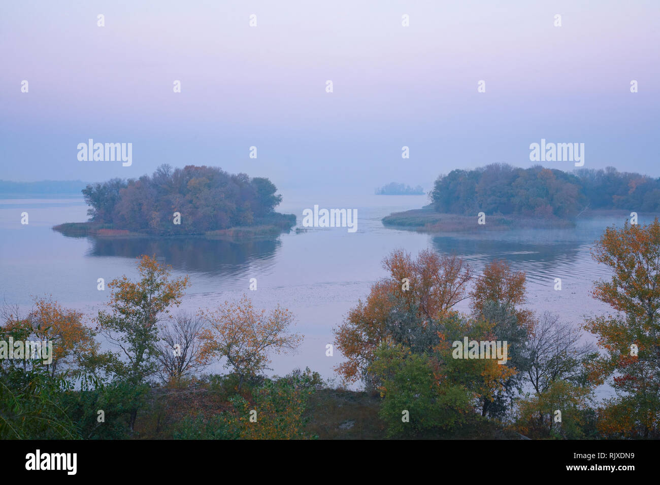
[[[244, 297], [170, 315], [189, 280], [144, 256], [137, 280], [108, 284], [94, 327], [49, 298], [24, 316], [5, 307], [0, 438], [657, 439], [660, 222], [608, 228], [592, 254], [612, 271], [593, 290], [612, 312], [582, 326], [598, 348], [526, 309], [525, 274], [504, 261], [475, 275], [456, 255], [394, 251], [335, 329], [339, 386], [309, 369], [265, 377], [302, 339], [290, 311]], [[466, 299], [469, 313], [453, 309]], [[53, 359], [7, 358], [9, 339], [48, 340]], [[457, 358], [464, 339], [506, 341], [508, 358]], [[203, 374], [211, 362], [230, 372]], [[356, 381], [365, 391], [345, 389]], [[615, 395], [599, 402], [602, 383]]]

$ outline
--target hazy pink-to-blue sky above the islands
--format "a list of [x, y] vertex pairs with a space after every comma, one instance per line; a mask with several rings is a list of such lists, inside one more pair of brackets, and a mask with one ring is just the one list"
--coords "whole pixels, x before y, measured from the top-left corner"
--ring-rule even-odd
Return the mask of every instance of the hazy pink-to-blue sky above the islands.
[[[3, 1], [0, 179], [207, 164], [372, 193], [530, 166], [541, 138], [660, 176], [659, 26], [659, 0]], [[132, 166], [80, 162], [90, 138], [133, 143]]]

